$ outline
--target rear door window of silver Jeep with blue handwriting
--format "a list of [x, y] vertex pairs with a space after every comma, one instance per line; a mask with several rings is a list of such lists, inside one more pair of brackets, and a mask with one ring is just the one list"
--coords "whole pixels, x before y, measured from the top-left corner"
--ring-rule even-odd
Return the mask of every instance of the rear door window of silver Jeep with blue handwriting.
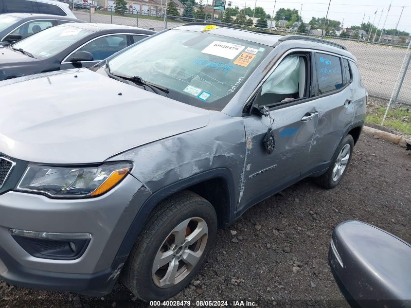
[[342, 88], [340, 57], [330, 54], [315, 54], [318, 91], [320, 94]]

